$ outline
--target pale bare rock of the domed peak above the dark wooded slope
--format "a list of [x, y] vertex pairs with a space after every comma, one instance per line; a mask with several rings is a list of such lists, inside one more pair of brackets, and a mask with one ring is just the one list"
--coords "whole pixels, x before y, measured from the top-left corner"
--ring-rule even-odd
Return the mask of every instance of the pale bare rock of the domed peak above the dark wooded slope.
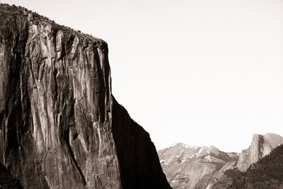
[[242, 172], [246, 171], [251, 164], [270, 154], [270, 151], [280, 144], [283, 144], [283, 137], [278, 134], [253, 134], [250, 147], [244, 149], [239, 156], [237, 163], [238, 169]]

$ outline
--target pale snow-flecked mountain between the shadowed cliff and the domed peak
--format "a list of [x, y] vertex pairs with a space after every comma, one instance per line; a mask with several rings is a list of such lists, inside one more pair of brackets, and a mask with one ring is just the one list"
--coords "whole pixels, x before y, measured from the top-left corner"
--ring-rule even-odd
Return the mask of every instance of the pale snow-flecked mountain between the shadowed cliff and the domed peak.
[[238, 154], [216, 147], [192, 147], [178, 143], [158, 151], [164, 173], [171, 187], [212, 188], [224, 172], [236, 166]]

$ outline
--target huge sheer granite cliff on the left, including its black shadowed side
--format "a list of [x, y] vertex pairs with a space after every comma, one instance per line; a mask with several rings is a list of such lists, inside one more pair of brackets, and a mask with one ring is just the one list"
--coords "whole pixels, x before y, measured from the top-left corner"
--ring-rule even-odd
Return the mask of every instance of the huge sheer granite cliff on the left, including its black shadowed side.
[[0, 73], [0, 184], [171, 188], [112, 96], [106, 42], [0, 4]]

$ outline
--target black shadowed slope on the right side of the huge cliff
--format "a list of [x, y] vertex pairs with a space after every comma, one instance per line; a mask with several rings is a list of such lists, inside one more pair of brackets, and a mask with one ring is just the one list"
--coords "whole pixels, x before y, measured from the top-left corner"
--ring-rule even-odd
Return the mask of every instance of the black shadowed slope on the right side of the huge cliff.
[[112, 131], [123, 188], [171, 188], [149, 133], [129, 117], [115, 98], [112, 107]]

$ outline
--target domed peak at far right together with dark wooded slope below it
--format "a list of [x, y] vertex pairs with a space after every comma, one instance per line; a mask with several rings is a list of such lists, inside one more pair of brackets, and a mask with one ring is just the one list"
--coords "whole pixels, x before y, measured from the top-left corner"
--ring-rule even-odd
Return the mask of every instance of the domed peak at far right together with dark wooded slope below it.
[[282, 143], [278, 134], [253, 134], [250, 147], [241, 152], [236, 168], [226, 170], [213, 188], [283, 188], [279, 160]]

